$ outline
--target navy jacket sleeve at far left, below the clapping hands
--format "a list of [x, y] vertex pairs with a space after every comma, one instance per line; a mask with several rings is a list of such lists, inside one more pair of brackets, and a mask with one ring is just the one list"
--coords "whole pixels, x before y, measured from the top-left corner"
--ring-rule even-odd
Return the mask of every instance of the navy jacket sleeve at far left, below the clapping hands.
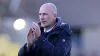
[[29, 51], [27, 51], [26, 44], [22, 46], [18, 52], [18, 56], [30, 56], [34, 55], [35, 56], [35, 47], [34, 44], [30, 47]]

